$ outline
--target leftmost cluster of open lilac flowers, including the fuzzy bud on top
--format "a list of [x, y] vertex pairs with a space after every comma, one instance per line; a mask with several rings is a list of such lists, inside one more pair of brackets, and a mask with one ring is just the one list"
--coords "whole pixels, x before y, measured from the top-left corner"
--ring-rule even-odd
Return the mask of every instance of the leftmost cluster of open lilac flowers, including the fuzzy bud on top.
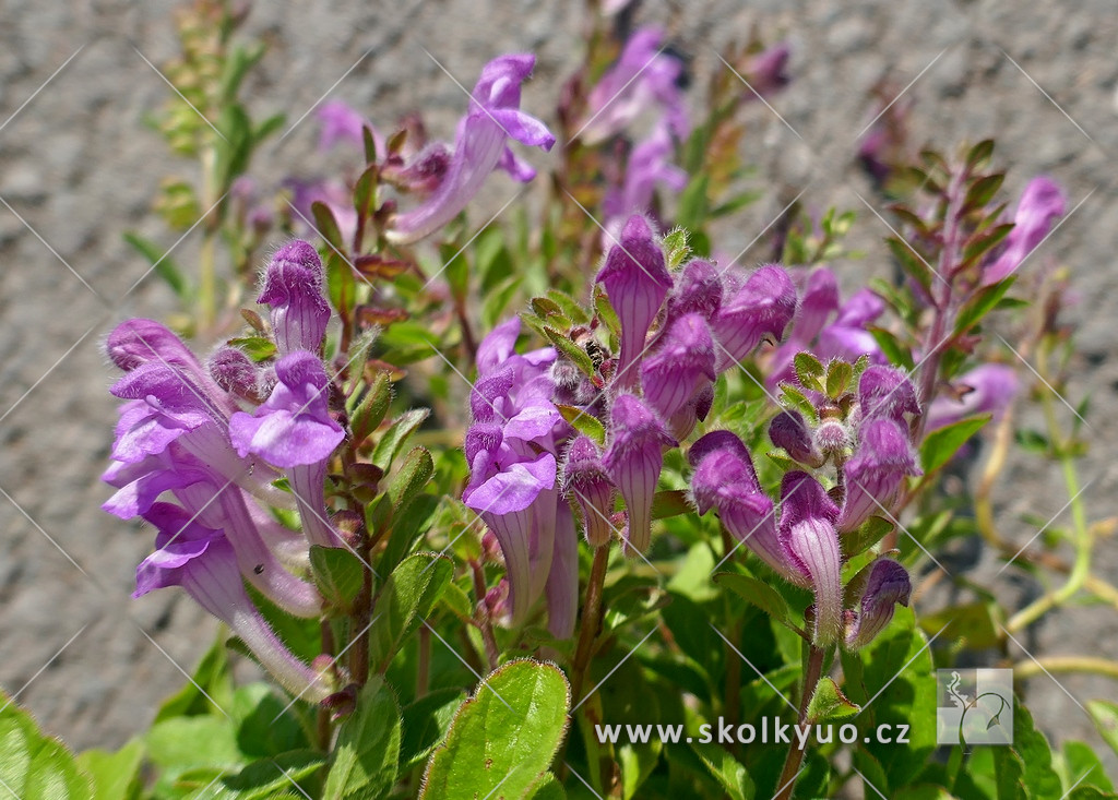
[[[116, 493], [104, 508], [159, 532], [136, 570], [134, 597], [181, 585], [286, 688], [321, 699], [324, 679], [286, 650], [244, 585], [296, 617], [316, 617], [322, 597], [305, 578], [309, 545], [341, 546], [324, 485], [344, 431], [328, 408], [319, 352], [330, 307], [311, 245], [276, 251], [258, 302], [271, 309], [271, 366], [229, 346], [203, 365], [151, 320], [127, 320], [108, 335], [108, 358], [124, 371], [111, 391], [124, 402], [103, 475]], [[281, 477], [291, 492], [276, 488]], [[297, 509], [302, 534], [276, 522], [269, 506]]]

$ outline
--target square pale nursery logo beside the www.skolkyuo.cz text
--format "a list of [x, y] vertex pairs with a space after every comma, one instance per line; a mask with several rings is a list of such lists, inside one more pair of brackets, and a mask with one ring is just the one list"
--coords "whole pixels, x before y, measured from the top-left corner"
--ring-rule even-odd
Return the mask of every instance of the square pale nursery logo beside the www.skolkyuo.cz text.
[[938, 744], [1012, 744], [1013, 670], [939, 669]]

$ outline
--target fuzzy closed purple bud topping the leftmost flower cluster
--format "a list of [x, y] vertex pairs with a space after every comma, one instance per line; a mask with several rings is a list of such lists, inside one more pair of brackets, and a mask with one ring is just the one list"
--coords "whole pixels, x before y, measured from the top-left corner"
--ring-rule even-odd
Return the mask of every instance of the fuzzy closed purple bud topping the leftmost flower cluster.
[[264, 273], [257, 303], [272, 308], [276, 350], [319, 352], [330, 322], [322, 294], [322, 261], [306, 241], [294, 239], [276, 250]]

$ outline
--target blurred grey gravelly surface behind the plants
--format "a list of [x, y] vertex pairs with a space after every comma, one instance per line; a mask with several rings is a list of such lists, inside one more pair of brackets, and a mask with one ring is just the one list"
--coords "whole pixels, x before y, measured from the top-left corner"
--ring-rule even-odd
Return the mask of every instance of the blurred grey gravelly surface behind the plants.
[[[917, 101], [918, 140], [946, 149], [996, 135], [1010, 192], [1046, 172], [1067, 188], [1070, 206], [1082, 203], [1030, 264], [1069, 265], [1080, 293], [1069, 314], [1080, 342], [1069, 394], [1073, 402], [1092, 396], [1083, 476], [1093, 483], [1083, 496], [1099, 518], [1118, 513], [1118, 463], [1109, 457], [1118, 445], [1109, 422], [1118, 410], [1118, 16], [1110, 0], [1060, 12], [1042, 7], [766, 0], [746, 9], [693, 2], [684, 12], [682, 3], [647, 2], [638, 19], [669, 25], [700, 76], [722, 68], [714, 48], [754, 26], [768, 41], [792, 40], [795, 79], [773, 99], [784, 121], [760, 104], [751, 108], [747, 159], [770, 191], [741, 215], [727, 249], [752, 239], [804, 190], [811, 208], [862, 212], [854, 242], [871, 255], [839, 265], [844, 283], [888, 273], [878, 244], [888, 231], [859, 199], [873, 196], [851, 161], [869, 118], [866, 93], [882, 76], [898, 86], [915, 80], [906, 97]], [[0, 2], [0, 409], [7, 409], [0, 410], [0, 686], [18, 692], [49, 731], [77, 747], [119, 745], [143, 730], [183, 679], [176, 663], [190, 669], [214, 630], [177, 592], [129, 600], [135, 563], [150, 543], [98, 508], [108, 492], [95, 479], [114, 420], [105, 391], [112, 372], [98, 341], [124, 316], [159, 317], [173, 307], [168, 289], [144, 278], [146, 265], [121, 240], [122, 231], [139, 229], [170, 247], [173, 237], [146, 218], [150, 201], [167, 174], [192, 174], [144, 125], [145, 114], [171, 96], [144, 63], [164, 63], [176, 51], [171, 8]], [[406, 8], [260, 3], [248, 31], [271, 49], [250, 84], [250, 105], [257, 114], [283, 111], [293, 122], [330, 91], [381, 124], [423, 107], [433, 132], [448, 136], [464, 97], [424, 50], [466, 86], [492, 56], [533, 50], [539, 63], [525, 106], [546, 117], [580, 54], [584, 18], [576, 8], [493, 0]], [[299, 171], [314, 135], [313, 121], [305, 121], [254, 171]], [[487, 219], [502, 199], [472, 213]], [[196, 246], [197, 237], [187, 237], [176, 257], [190, 264]], [[1061, 487], [1054, 467], [1015, 464], [999, 488], [1004, 528], [1024, 542], [1032, 533], [1022, 514], [1051, 517], [1067, 502]], [[995, 571], [985, 563], [978, 577]], [[1100, 544], [1097, 563], [1118, 580], [1112, 542]], [[1022, 587], [1008, 580], [1012, 572], [996, 585], [1016, 597]], [[1060, 611], [1022, 641], [1033, 655], [1115, 658], [1118, 615], [1103, 607]], [[1060, 679], [1067, 692], [1044, 677], [1027, 687], [1038, 723], [1055, 736], [1098, 742], [1077, 704], [1112, 698], [1115, 684]]]

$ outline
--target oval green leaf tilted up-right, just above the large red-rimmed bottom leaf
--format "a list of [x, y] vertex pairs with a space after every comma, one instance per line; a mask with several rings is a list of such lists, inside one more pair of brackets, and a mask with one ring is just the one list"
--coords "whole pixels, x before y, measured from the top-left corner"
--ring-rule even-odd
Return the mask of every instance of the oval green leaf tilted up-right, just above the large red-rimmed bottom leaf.
[[416, 553], [392, 571], [372, 610], [369, 663], [373, 672], [388, 668], [400, 642], [430, 615], [453, 575], [454, 563], [436, 553]]

